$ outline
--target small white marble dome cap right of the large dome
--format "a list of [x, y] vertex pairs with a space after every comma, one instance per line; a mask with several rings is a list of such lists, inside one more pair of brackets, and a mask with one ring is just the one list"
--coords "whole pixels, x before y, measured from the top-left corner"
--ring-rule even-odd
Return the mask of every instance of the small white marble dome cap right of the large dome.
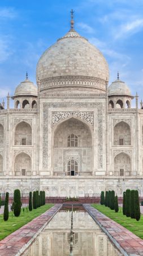
[[120, 79], [117, 79], [114, 82], [112, 82], [109, 86], [108, 95], [131, 96], [131, 90], [128, 88], [128, 85], [125, 84], [125, 82], [122, 82]]

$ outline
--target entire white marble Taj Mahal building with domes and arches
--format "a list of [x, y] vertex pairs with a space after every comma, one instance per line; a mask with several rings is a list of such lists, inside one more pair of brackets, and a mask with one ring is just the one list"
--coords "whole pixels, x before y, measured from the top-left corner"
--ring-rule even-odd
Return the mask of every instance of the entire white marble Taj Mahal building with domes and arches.
[[[0, 191], [84, 196], [142, 192], [143, 110], [102, 53], [73, 28], [0, 105]], [[10, 108], [10, 98], [14, 108]]]

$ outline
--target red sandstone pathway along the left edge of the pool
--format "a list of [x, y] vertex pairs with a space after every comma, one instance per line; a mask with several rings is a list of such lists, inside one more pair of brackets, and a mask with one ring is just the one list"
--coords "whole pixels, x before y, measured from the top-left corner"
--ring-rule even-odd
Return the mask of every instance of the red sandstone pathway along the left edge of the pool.
[[45, 213], [34, 218], [31, 222], [28, 222], [26, 225], [1, 240], [0, 256], [14, 256], [18, 254], [19, 250], [23, 249], [26, 243], [37, 236], [37, 233], [45, 227], [61, 206], [61, 204], [54, 205], [54, 207], [50, 208]]

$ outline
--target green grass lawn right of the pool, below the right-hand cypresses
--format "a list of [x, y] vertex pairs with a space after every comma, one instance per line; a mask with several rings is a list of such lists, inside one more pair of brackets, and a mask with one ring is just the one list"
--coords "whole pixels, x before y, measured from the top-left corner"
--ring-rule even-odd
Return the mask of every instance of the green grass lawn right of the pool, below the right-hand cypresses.
[[124, 228], [127, 228], [132, 233], [136, 234], [136, 236], [143, 239], [143, 215], [141, 214], [141, 218], [139, 221], [136, 221], [133, 218], [126, 217], [122, 213], [122, 207], [119, 207], [119, 212], [115, 213], [115, 210], [110, 210], [110, 208], [105, 207], [105, 205], [100, 204], [91, 204], [94, 208], [99, 210], [99, 212], [102, 212], [107, 217], [111, 218], [111, 220], [114, 220], [118, 222], [120, 225], [124, 226]]

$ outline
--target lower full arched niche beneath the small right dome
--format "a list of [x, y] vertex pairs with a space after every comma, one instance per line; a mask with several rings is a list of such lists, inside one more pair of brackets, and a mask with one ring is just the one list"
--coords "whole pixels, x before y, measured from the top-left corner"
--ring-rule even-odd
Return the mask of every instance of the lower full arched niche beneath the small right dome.
[[114, 158], [114, 175], [131, 176], [131, 158], [125, 153], [120, 153]]

